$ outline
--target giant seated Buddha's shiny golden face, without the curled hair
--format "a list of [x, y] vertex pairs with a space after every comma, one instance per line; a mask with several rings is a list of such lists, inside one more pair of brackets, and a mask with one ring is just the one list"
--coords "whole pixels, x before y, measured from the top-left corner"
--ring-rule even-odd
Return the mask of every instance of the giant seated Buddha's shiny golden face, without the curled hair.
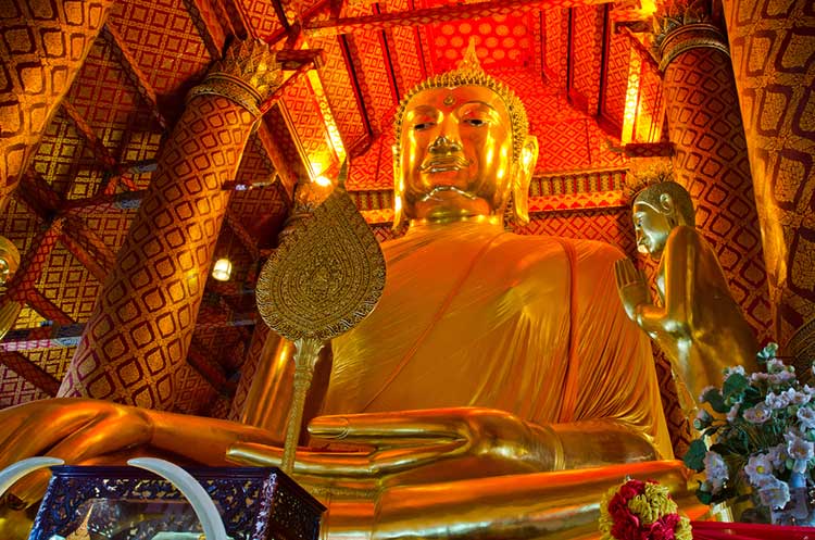
[[446, 221], [503, 213], [512, 169], [512, 124], [489, 88], [424, 90], [402, 120], [399, 161], [404, 215]]

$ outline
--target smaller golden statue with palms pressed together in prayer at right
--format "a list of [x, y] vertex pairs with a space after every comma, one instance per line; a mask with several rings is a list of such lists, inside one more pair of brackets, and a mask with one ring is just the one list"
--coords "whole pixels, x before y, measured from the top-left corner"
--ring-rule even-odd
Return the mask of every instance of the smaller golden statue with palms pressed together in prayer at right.
[[756, 371], [758, 346], [716, 253], [695, 228], [690, 193], [665, 173], [652, 176], [631, 211], [638, 250], [659, 261], [659, 304], [628, 259], [616, 265], [619, 297], [631, 321], [656, 341], [698, 397], [722, 384], [727, 366]]

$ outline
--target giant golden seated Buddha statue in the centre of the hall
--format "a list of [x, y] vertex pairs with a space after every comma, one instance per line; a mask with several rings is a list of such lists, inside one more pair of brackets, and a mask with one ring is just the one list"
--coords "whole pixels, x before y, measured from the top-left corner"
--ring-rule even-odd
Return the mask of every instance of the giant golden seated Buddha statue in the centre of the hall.
[[[504, 230], [526, 214], [537, 141], [474, 54], [409, 92], [397, 219], [376, 310], [333, 341], [294, 477], [343, 538], [587, 538], [626, 475], [685, 489], [648, 339], [616, 299], [611, 246]], [[279, 405], [285, 406], [285, 404]], [[43, 429], [43, 426], [48, 426]], [[278, 464], [275, 432], [92, 400], [0, 411], [0, 465], [164, 452]], [[30, 499], [33, 484], [14, 493]]]

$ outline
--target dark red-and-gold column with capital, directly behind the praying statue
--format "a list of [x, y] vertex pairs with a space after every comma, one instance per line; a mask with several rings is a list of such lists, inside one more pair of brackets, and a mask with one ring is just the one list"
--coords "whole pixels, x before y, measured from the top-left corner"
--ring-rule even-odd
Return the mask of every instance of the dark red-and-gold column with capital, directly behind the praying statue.
[[688, 11], [657, 17], [674, 173], [761, 342], [772, 312], [744, 128], [725, 37], [704, 21]]

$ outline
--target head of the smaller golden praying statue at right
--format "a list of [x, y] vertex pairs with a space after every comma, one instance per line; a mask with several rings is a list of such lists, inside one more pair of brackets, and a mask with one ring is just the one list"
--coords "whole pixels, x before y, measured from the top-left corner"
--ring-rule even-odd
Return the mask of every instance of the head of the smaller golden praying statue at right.
[[660, 259], [668, 235], [678, 225], [695, 226], [690, 193], [679, 184], [662, 179], [640, 190], [631, 206], [637, 250]]

